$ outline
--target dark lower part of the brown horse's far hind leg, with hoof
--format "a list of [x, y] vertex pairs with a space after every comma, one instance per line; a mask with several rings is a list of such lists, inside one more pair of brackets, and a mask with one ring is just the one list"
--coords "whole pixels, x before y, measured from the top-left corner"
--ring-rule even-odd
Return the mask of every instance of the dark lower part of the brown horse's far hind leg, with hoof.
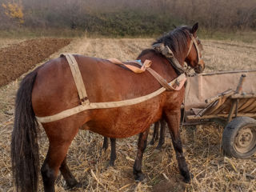
[[59, 170], [61, 171], [62, 176], [66, 181], [66, 186], [69, 189], [73, 188], [74, 186], [78, 186], [77, 180], [74, 178], [73, 174], [70, 172], [70, 169], [66, 164], [66, 157], [64, 158]]

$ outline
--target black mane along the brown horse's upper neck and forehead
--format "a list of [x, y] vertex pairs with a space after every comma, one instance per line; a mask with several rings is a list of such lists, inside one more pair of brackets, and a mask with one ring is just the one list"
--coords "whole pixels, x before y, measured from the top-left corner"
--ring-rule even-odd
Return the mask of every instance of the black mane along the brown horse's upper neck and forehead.
[[172, 50], [174, 54], [182, 54], [187, 47], [187, 38], [190, 31], [191, 29], [188, 26], [178, 26], [168, 34], [158, 38], [152, 45], [164, 43], [165, 46], [170, 47], [170, 50]]

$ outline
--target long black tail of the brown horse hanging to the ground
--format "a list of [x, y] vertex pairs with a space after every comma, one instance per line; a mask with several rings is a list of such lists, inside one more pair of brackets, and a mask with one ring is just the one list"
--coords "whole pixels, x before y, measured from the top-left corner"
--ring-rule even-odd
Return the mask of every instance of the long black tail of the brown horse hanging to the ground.
[[15, 101], [14, 130], [11, 135], [11, 161], [16, 191], [38, 190], [38, 122], [32, 108], [34, 70], [22, 80]]

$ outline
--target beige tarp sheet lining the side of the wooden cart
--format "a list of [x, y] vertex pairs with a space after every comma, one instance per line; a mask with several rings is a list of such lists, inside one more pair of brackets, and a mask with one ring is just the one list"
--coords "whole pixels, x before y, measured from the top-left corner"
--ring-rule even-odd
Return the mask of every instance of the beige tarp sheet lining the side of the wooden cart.
[[[256, 113], [256, 70], [223, 71], [217, 73], [198, 74], [187, 79], [185, 109], [194, 110], [206, 108], [209, 103], [205, 100], [214, 98], [226, 90], [236, 90], [242, 74], [246, 78], [242, 84], [242, 95], [251, 95], [251, 98], [239, 99], [238, 112]], [[228, 114], [232, 102], [230, 98], [218, 99], [218, 107], [214, 105], [206, 114]]]

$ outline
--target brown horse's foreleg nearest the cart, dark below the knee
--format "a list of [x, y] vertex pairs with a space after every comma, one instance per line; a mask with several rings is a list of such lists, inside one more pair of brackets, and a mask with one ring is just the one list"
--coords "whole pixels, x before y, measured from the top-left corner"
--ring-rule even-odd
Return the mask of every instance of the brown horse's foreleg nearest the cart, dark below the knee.
[[168, 111], [166, 113], [166, 121], [169, 126], [170, 135], [172, 138], [176, 158], [178, 161], [178, 168], [184, 177], [184, 182], [190, 182], [190, 171], [186, 164], [186, 159], [182, 150], [182, 140], [179, 133], [181, 112], [180, 110]]

